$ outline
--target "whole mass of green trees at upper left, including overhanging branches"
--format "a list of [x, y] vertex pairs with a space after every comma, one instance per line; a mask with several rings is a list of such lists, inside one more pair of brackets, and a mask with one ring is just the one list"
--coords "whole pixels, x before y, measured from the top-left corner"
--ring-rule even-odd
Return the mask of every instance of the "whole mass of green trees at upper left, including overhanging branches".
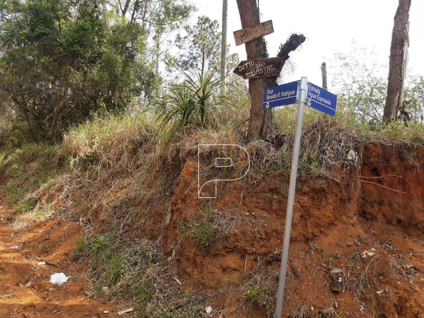
[[[157, 98], [161, 79], [149, 58], [150, 28], [143, 16], [155, 11], [156, 5], [128, 3], [126, 9], [134, 10], [138, 20], [128, 21], [125, 13], [110, 11], [111, 42], [98, 1], [2, 2], [3, 142], [19, 146], [28, 140], [57, 140], [70, 126], [96, 112], [119, 113], [127, 106], [141, 106], [143, 101]], [[164, 28], [184, 20], [192, 10], [184, 1], [158, 3], [163, 12], [148, 23], [154, 25], [155, 19], [160, 19]]]

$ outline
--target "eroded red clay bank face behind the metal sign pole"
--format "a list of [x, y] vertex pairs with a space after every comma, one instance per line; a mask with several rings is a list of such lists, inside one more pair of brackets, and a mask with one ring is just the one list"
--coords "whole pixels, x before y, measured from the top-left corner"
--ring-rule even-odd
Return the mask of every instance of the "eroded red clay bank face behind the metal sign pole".
[[[413, 164], [405, 151], [412, 149], [365, 145], [362, 169], [339, 167], [333, 172], [338, 181], [317, 178], [298, 187], [283, 316], [304, 305], [310, 317], [329, 307], [343, 317], [370, 317], [374, 299], [375, 317], [424, 317], [424, 151], [414, 150]], [[187, 162], [174, 191], [175, 221], [162, 237], [170, 249], [178, 247], [178, 223], [193, 213], [200, 217], [205, 209], [197, 198], [196, 164]], [[234, 182], [219, 191], [215, 209], [240, 221], [224, 244], [212, 244], [207, 251], [185, 240], [179, 275], [190, 287], [239, 290], [238, 282], [262, 260], [278, 280], [287, 184], [276, 174], [262, 183]], [[314, 251], [315, 244], [325, 251]], [[365, 252], [362, 257], [364, 251], [372, 256]], [[340, 293], [329, 290], [332, 268], [341, 268], [351, 282]], [[243, 302], [237, 290], [215, 304], [225, 316], [266, 317], [264, 310]]]

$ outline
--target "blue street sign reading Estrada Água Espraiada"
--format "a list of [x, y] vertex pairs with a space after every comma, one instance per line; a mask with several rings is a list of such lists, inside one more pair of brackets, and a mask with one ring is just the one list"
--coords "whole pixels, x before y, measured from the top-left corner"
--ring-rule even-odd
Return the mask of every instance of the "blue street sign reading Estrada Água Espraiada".
[[321, 112], [335, 116], [337, 95], [309, 82], [305, 103]]

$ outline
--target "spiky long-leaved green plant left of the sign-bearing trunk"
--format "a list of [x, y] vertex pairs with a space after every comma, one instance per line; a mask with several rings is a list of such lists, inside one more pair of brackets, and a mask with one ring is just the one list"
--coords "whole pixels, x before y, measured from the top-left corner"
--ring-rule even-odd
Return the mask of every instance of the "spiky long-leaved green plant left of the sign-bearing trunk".
[[162, 99], [162, 114], [159, 115], [160, 129], [170, 125], [168, 142], [185, 126], [192, 128], [208, 128], [213, 118], [220, 115], [220, 99], [215, 91], [221, 84], [213, 80], [211, 74], [197, 74], [197, 81], [184, 73], [186, 79], [183, 85], [172, 85], [170, 92]]

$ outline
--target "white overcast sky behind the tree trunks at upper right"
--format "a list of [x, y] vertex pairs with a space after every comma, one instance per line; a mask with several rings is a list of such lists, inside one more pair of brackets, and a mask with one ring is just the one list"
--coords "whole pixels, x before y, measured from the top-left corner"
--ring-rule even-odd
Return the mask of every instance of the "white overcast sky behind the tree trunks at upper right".
[[[198, 8], [191, 23], [199, 15], [222, 22], [222, 1], [191, 0]], [[301, 3], [302, 5], [299, 5]], [[285, 81], [307, 76], [321, 86], [321, 63], [334, 53], [349, 53], [351, 42], [357, 47], [373, 47], [374, 59], [379, 64], [389, 63], [393, 17], [398, 0], [259, 0], [261, 21], [272, 20], [274, 33], [265, 36], [270, 57], [290, 33], [303, 33], [306, 41], [300, 50], [290, 54], [296, 70]], [[424, 0], [412, 0], [410, 9], [410, 47], [408, 68], [414, 74], [424, 75]], [[241, 29], [236, 0], [228, 1], [228, 36], [230, 52], [246, 59], [245, 45], [235, 46], [233, 31]], [[327, 68], [331, 65], [328, 65]], [[329, 72], [328, 81], [331, 82]]]

